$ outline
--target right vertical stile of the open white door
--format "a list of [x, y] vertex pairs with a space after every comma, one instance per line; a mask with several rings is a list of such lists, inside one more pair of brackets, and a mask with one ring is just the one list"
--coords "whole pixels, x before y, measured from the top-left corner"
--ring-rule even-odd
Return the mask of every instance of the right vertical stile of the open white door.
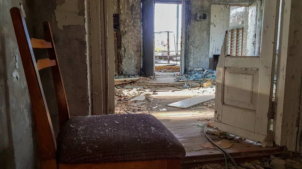
[[[263, 135], [268, 134], [273, 97], [274, 72], [276, 64], [276, 47], [279, 21], [279, 1], [266, 0], [263, 5], [262, 45], [259, 61], [259, 88], [255, 132]], [[269, 84], [269, 85], [268, 85]], [[265, 94], [265, 97], [263, 97]], [[269, 97], [267, 97], [267, 95]], [[263, 112], [264, 110], [264, 112]], [[258, 125], [260, 124], [260, 125]]]

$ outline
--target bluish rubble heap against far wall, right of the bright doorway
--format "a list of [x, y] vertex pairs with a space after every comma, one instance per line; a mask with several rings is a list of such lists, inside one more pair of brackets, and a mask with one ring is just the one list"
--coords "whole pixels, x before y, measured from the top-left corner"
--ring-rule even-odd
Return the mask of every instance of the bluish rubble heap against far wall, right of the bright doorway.
[[198, 68], [193, 71], [188, 72], [187, 74], [177, 78], [177, 81], [207, 81], [211, 80], [216, 81], [216, 71], [210, 69]]

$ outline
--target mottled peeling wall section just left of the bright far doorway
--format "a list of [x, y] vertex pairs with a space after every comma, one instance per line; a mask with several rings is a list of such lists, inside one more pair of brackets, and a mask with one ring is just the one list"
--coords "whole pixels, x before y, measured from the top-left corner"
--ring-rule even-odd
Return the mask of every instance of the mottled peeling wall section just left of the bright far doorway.
[[141, 70], [141, 2], [114, 0], [113, 13], [119, 14], [119, 37], [115, 62], [120, 75], [137, 75]]

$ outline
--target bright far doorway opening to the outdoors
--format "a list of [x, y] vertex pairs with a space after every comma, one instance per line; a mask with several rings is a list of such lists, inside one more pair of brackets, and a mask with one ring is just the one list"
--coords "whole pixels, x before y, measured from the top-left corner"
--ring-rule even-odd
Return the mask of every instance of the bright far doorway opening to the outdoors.
[[181, 51], [181, 10], [179, 4], [155, 4], [155, 70], [179, 73]]

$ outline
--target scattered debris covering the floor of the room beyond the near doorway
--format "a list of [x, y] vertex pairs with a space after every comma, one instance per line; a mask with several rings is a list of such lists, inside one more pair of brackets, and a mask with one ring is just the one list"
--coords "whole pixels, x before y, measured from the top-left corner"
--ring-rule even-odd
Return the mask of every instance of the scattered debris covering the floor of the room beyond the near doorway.
[[[172, 79], [176, 79], [172, 74], [171, 76]], [[215, 94], [215, 85], [212, 84], [209, 87], [203, 87], [203, 83], [198, 81], [157, 83], [156, 79], [142, 77], [125, 78], [124, 76], [118, 76], [116, 78], [115, 82], [119, 83], [115, 85], [116, 113], [153, 114], [160, 111], [165, 112], [170, 111], [170, 108], [173, 109], [168, 106], [170, 103], [190, 97], [197, 96], [202, 98], [208, 94]], [[180, 96], [180, 98], [179, 100], [173, 100], [165, 105], [161, 105], [160, 102], [153, 101], [159, 95]], [[207, 100], [201, 100], [190, 105], [186, 111], [198, 112], [204, 110], [205, 114], [209, 111], [214, 112], [214, 97]]]

